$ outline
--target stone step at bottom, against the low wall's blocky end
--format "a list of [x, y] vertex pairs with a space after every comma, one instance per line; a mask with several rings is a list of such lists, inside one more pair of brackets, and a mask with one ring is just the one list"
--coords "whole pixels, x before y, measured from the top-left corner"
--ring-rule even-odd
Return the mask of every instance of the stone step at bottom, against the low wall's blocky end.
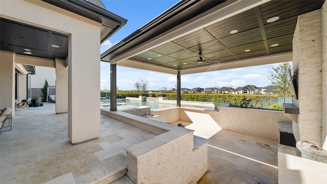
[[127, 161], [126, 161], [126, 155], [124, 155], [123, 153], [119, 153], [114, 156], [111, 156], [107, 159], [102, 160], [101, 162], [104, 165], [104, 167], [107, 169], [109, 174], [92, 183], [94, 184], [112, 183], [113, 181], [116, 181], [126, 176]]

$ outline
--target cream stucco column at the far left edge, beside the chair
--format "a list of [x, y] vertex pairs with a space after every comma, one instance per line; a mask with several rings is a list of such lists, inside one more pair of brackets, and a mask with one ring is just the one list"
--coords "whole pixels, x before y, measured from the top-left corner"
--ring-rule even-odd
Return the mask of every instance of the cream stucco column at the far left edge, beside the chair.
[[0, 108], [11, 108], [15, 116], [15, 55], [9, 52], [0, 55]]

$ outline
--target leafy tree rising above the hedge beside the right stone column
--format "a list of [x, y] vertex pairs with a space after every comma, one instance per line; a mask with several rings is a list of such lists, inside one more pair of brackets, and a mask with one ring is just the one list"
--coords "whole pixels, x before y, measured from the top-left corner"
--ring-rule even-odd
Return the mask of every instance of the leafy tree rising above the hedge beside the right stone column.
[[283, 103], [285, 102], [285, 97], [293, 95], [293, 91], [290, 83], [290, 76], [288, 71], [291, 70], [291, 65], [289, 62], [284, 62], [276, 67], [271, 67], [271, 71], [268, 72], [267, 78], [271, 81], [276, 89], [273, 93], [279, 97], [283, 97]]

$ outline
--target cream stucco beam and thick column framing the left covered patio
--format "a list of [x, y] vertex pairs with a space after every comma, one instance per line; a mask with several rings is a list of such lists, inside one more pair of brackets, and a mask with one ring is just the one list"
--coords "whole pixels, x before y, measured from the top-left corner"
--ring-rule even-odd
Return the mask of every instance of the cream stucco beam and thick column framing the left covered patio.
[[102, 25], [42, 1], [5, 1], [0, 8], [4, 18], [68, 35], [68, 137], [79, 143], [100, 136]]

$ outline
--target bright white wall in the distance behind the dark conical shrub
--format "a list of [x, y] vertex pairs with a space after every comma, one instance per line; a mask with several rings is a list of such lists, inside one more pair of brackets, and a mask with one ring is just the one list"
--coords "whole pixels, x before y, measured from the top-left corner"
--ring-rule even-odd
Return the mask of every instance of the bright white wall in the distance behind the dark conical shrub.
[[31, 75], [31, 87], [42, 88], [45, 79], [49, 86], [56, 85], [56, 70], [51, 67], [35, 66], [36, 75]]

